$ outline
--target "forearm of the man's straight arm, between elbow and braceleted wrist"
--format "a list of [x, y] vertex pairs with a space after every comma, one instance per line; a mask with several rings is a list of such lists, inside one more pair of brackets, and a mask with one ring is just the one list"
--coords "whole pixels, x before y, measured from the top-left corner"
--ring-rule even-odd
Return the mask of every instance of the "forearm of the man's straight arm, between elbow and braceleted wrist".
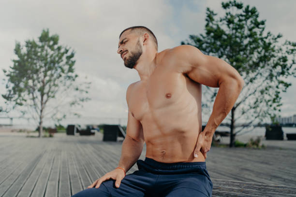
[[127, 172], [139, 159], [144, 147], [144, 141], [135, 141], [128, 136], [122, 142], [121, 156], [118, 167]]

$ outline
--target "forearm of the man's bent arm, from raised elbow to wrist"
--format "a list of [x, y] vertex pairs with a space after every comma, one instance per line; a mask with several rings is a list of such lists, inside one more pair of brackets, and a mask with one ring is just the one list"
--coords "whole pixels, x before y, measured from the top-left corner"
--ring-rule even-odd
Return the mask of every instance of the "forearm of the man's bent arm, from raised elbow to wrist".
[[213, 112], [210, 115], [204, 130], [206, 135], [211, 137], [214, 135], [216, 128], [233, 108], [242, 87], [242, 79], [231, 79], [220, 84], [213, 106]]

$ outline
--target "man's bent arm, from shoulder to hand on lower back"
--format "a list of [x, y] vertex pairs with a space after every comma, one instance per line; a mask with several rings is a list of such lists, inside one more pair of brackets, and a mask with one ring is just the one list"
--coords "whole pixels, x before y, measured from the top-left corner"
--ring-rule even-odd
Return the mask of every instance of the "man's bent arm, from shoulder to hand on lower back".
[[175, 49], [176, 53], [182, 56], [180, 72], [186, 73], [197, 83], [219, 87], [213, 111], [207, 126], [198, 136], [194, 150], [194, 155], [201, 151], [206, 158], [214, 132], [233, 108], [244, 81], [236, 69], [220, 58], [204, 55], [196, 47], [190, 45], [182, 45]]

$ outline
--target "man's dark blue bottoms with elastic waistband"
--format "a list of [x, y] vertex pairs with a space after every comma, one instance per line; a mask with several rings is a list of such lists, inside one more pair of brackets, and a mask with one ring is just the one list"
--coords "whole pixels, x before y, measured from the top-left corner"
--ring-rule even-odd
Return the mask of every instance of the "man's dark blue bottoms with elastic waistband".
[[73, 197], [211, 197], [213, 184], [206, 162], [161, 163], [138, 160], [139, 170], [126, 175], [119, 188], [115, 180], [85, 189]]

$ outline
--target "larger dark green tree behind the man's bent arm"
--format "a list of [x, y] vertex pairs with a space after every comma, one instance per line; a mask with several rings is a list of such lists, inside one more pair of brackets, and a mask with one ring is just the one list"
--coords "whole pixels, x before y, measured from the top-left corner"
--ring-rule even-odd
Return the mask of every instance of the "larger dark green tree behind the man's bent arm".
[[[291, 85], [286, 78], [296, 77], [296, 42], [280, 42], [282, 35], [266, 32], [266, 20], [259, 20], [255, 7], [244, 6], [236, 0], [222, 2], [225, 14], [218, 17], [207, 8], [205, 34], [190, 35], [181, 44], [191, 44], [204, 54], [222, 58], [232, 65], [243, 77], [245, 85], [231, 113], [228, 115], [230, 126], [230, 147], [235, 136], [248, 132], [254, 121], [267, 118], [274, 120], [281, 111], [281, 92]], [[205, 88], [209, 106], [218, 90]], [[236, 122], [246, 121], [235, 131]]]

